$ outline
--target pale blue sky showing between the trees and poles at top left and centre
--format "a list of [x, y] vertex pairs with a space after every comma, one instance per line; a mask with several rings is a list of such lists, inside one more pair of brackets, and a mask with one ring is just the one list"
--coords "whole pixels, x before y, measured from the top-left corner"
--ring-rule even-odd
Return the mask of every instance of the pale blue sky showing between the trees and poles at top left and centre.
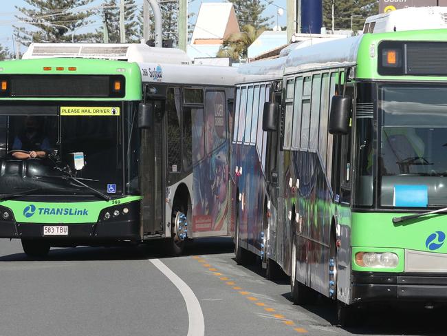
[[[19, 11], [15, 8], [15, 6], [26, 6], [24, 0], [0, 0], [1, 1], [1, 11], [0, 11], [0, 43], [1, 45], [5, 45], [10, 50], [12, 50], [12, 25], [22, 25], [25, 27], [30, 27], [30, 25], [26, 25], [25, 23], [20, 23], [15, 17], [14, 14], [19, 14]], [[268, 4], [267, 0], [261, 0], [263, 3]], [[264, 15], [265, 16], [274, 16], [274, 19], [272, 20], [274, 24], [276, 24], [276, 10], [278, 9], [277, 6], [283, 8], [285, 10], [286, 7], [286, 1], [287, 0], [274, 0], [272, 1], [272, 4], [268, 4], [267, 8], [265, 9]], [[202, 2], [222, 2], [219, 0], [193, 0], [190, 1], [190, 5], [188, 6], [188, 12], [194, 12], [196, 13], [195, 17], [193, 18], [193, 23], [195, 22], [195, 19], [197, 18], [197, 12], [199, 12], [200, 3]], [[99, 6], [102, 3], [102, 0], [95, 0], [89, 7], [91, 6]], [[135, 3], [142, 6], [143, 0], [136, 0]], [[276, 6], [275, 6], [276, 5]], [[98, 21], [96, 21], [96, 24], [91, 25], [91, 27], [83, 28], [85, 30], [95, 30], [96, 28], [99, 28], [101, 23], [99, 21], [99, 18], [96, 18]], [[279, 25], [284, 26], [285, 25], [285, 11], [282, 17], [279, 17]], [[83, 30], [79, 30], [78, 32], [83, 32]], [[24, 48], [22, 48], [22, 51], [24, 51]]]

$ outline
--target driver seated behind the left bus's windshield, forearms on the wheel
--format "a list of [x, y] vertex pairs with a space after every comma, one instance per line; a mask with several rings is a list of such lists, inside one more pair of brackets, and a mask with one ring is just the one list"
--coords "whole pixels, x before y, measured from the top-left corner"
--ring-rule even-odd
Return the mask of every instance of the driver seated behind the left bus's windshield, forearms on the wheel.
[[41, 133], [39, 118], [27, 116], [24, 125], [23, 132], [14, 138], [12, 150], [15, 152], [12, 153], [12, 156], [20, 160], [45, 158], [47, 151], [50, 150], [50, 140]]

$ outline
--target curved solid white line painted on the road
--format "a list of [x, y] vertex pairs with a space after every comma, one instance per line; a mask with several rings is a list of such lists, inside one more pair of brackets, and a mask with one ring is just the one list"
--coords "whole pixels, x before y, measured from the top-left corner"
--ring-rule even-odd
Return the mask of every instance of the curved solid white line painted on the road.
[[195, 296], [193, 290], [178, 277], [171, 269], [162, 263], [160, 259], [149, 259], [152, 264], [157, 267], [171, 282], [177, 287], [186, 303], [188, 311], [188, 336], [204, 336], [205, 322], [204, 313], [201, 311], [199, 300]]

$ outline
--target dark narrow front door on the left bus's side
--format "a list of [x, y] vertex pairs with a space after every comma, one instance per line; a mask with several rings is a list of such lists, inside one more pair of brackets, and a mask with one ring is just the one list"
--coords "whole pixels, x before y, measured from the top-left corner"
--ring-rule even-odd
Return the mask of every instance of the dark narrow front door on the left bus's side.
[[149, 98], [153, 125], [142, 129], [140, 157], [141, 220], [144, 235], [162, 233], [164, 209], [164, 106], [165, 101]]

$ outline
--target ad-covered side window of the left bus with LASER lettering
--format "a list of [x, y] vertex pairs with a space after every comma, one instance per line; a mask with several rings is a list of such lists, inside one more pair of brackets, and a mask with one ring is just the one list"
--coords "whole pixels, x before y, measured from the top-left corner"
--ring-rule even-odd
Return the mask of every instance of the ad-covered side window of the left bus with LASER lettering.
[[206, 154], [226, 141], [225, 92], [207, 91], [205, 94]]

